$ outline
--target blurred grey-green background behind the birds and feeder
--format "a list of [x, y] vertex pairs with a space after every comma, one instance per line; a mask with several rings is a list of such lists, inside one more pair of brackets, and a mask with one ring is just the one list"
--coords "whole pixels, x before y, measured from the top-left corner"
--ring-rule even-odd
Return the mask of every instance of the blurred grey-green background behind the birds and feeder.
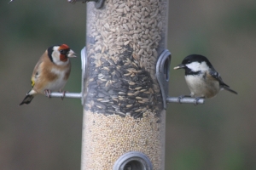
[[[0, 2], [0, 169], [79, 169], [79, 99], [38, 96], [19, 106], [44, 50], [85, 45], [86, 5], [66, 0]], [[204, 54], [224, 82], [205, 105], [168, 105], [166, 170], [256, 169], [256, 1], [169, 1], [168, 49], [173, 68], [188, 54]], [[80, 92], [81, 61], [67, 82]], [[183, 71], [171, 69], [169, 94], [189, 94]]]

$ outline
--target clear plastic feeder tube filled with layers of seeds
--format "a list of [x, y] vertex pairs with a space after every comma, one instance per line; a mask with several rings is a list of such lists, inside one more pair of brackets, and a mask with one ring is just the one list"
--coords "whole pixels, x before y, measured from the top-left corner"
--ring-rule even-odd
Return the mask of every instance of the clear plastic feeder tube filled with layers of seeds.
[[114, 169], [126, 155], [123, 169], [165, 169], [166, 111], [155, 67], [166, 49], [167, 14], [167, 0], [87, 3], [82, 170]]

